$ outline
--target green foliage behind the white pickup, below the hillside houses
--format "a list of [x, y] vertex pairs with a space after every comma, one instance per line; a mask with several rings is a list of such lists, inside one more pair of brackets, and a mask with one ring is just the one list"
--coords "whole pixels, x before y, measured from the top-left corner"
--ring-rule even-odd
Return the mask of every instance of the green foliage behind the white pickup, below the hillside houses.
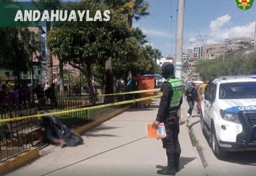
[[203, 60], [196, 64], [196, 72], [200, 74], [204, 81], [210, 80], [215, 76], [225, 75], [251, 75], [256, 74], [256, 53], [228, 54], [216, 60]]

